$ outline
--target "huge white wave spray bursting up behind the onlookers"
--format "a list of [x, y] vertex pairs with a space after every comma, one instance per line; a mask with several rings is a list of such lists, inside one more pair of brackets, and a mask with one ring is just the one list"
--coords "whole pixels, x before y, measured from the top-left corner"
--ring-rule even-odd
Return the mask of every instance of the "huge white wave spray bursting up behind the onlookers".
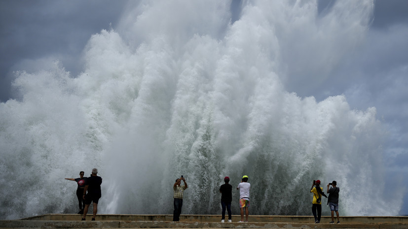
[[364, 40], [372, 1], [320, 16], [315, 1], [244, 2], [233, 23], [230, 2], [132, 4], [118, 28], [92, 35], [77, 77], [59, 62], [17, 72], [21, 100], [0, 103], [0, 218], [75, 212], [64, 178], [93, 167], [101, 214], [171, 214], [181, 175], [183, 214], [219, 214], [223, 177], [243, 175], [251, 214], [310, 215], [316, 179], [337, 181], [342, 215], [398, 214], [375, 108], [284, 87], [330, 74]]

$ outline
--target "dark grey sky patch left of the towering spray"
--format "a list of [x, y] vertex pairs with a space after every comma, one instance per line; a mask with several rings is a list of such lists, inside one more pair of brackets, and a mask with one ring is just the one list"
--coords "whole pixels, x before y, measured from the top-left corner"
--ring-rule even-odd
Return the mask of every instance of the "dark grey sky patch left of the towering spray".
[[0, 101], [12, 98], [12, 71], [42, 69], [44, 59], [59, 59], [74, 75], [94, 33], [113, 27], [127, 1], [0, 1]]

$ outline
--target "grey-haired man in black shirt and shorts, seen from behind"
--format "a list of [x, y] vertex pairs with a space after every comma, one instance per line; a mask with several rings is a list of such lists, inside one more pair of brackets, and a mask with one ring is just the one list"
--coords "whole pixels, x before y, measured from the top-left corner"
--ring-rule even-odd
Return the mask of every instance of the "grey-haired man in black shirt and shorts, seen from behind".
[[95, 221], [95, 216], [96, 213], [98, 212], [98, 202], [99, 198], [101, 198], [102, 196], [101, 193], [102, 178], [100, 176], [97, 176], [96, 174], [98, 174], [98, 169], [93, 168], [91, 176], [86, 179], [85, 189], [83, 191], [83, 198], [85, 199], [85, 208], [83, 210], [82, 220], [85, 220], [86, 213], [88, 213], [88, 208], [91, 202], [93, 202], [92, 221]]

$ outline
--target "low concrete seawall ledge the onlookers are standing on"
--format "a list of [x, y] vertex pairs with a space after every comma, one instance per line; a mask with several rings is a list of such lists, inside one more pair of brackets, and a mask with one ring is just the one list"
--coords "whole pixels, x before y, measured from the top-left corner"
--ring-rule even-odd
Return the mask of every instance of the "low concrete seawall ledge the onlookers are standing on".
[[320, 224], [313, 216], [250, 215], [248, 223], [237, 223], [241, 217], [233, 215], [232, 223], [221, 223], [221, 215], [182, 215], [180, 222], [171, 222], [172, 215], [97, 215], [96, 221], [80, 221], [77, 214], [47, 214], [21, 220], [1, 220], [0, 229], [130, 229], [130, 228], [316, 228], [316, 229], [408, 229], [408, 217], [344, 216], [340, 224], [329, 224], [330, 216], [323, 216]]

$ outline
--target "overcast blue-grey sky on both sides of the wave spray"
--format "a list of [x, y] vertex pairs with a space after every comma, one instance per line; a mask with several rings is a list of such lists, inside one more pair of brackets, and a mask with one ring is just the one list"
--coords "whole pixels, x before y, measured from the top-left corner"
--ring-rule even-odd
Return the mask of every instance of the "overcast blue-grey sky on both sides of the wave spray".
[[[124, 0], [1, 0], [0, 101], [18, 98], [13, 71], [35, 72], [60, 60], [75, 77], [83, 70], [82, 51], [90, 36], [115, 28]], [[319, 2], [324, 14], [334, 0]], [[232, 20], [239, 19], [232, 4]], [[376, 107], [389, 131], [384, 146], [387, 175], [404, 174], [408, 183], [408, 0], [376, 0], [371, 28], [362, 45], [335, 72], [313, 85], [288, 80], [286, 88], [320, 101], [344, 94], [352, 108]], [[294, 72], [293, 74], [297, 74]], [[307, 77], [307, 76], [305, 76]], [[408, 214], [408, 196], [401, 214]]]

